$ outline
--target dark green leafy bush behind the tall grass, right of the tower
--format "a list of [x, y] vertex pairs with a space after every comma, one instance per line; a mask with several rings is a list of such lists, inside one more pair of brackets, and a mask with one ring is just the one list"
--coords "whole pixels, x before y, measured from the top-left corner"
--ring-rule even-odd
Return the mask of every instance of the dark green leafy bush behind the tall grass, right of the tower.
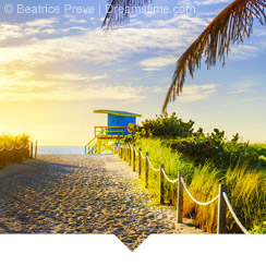
[[214, 129], [210, 134], [204, 134], [200, 128], [193, 130], [194, 121], [183, 122], [173, 112], [171, 116], [160, 114], [156, 119], [146, 119], [142, 125], [136, 126], [134, 138], [156, 137], [161, 140], [161, 145], [170, 147], [173, 152], [196, 165], [211, 161], [219, 169], [227, 169], [249, 161], [250, 167], [266, 166], [266, 149], [252, 148], [249, 143], [240, 143], [239, 133], [231, 141], [225, 137], [225, 131]]

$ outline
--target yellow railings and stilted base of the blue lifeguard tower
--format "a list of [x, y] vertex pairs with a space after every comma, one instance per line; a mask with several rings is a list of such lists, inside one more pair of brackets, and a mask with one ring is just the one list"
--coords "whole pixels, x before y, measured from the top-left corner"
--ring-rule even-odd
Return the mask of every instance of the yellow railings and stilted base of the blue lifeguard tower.
[[85, 145], [85, 154], [114, 154], [124, 137], [125, 126], [94, 126], [94, 138]]

